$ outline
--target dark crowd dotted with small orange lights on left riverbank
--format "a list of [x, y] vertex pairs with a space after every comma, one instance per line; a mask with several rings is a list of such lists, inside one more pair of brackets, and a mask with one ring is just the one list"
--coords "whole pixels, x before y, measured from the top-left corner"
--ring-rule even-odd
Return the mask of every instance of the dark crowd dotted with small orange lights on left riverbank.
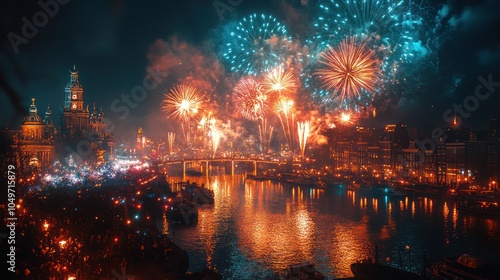
[[114, 279], [141, 263], [187, 271], [187, 253], [156, 226], [156, 198], [166, 193], [135, 184], [27, 189], [17, 212], [17, 279]]

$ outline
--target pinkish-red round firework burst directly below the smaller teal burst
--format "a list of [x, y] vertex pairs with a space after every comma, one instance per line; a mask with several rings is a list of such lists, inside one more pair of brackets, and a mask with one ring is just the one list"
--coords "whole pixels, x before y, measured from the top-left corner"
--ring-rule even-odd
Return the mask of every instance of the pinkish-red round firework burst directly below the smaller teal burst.
[[233, 90], [235, 111], [251, 121], [261, 119], [267, 111], [267, 96], [259, 82], [253, 78], [242, 79]]

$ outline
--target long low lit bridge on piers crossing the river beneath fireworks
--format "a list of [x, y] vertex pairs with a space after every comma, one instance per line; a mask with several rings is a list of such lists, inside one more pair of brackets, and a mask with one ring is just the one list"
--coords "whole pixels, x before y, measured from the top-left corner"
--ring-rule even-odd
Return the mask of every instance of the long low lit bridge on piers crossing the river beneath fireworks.
[[[287, 161], [276, 161], [276, 160], [266, 160], [266, 159], [252, 159], [252, 158], [186, 158], [186, 159], [174, 159], [170, 161], [165, 161], [158, 164], [158, 167], [170, 168], [176, 165], [180, 165], [182, 170], [182, 176], [186, 176], [186, 171], [192, 169], [195, 165], [200, 168], [200, 172], [208, 176], [208, 172], [211, 166], [216, 163], [231, 163], [231, 175], [234, 175], [235, 169], [238, 163], [252, 163], [253, 164], [253, 174], [257, 175], [258, 164], [272, 164], [276, 166], [286, 165]], [[294, 163], [296, 164], [296, 163]]]

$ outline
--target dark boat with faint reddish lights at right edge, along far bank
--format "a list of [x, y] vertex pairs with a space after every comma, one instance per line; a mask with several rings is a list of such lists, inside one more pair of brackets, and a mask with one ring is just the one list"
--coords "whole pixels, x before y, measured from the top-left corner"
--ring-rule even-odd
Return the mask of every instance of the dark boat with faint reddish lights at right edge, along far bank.
[[487, 196], [461, 196], [458, 211], [500, 216], [500, 200]]

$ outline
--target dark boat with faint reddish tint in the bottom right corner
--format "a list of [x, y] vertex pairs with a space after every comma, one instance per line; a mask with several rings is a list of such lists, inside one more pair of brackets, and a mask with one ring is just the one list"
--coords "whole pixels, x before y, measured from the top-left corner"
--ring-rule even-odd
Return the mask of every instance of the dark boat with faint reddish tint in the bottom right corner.
[[463, 254], [460, 257], [446, 259], [442, 263], [432, 264], [426, 268], [429, 279], [461, 279], [486, 280], [500, 279], [500, 271], [484, 260]]

